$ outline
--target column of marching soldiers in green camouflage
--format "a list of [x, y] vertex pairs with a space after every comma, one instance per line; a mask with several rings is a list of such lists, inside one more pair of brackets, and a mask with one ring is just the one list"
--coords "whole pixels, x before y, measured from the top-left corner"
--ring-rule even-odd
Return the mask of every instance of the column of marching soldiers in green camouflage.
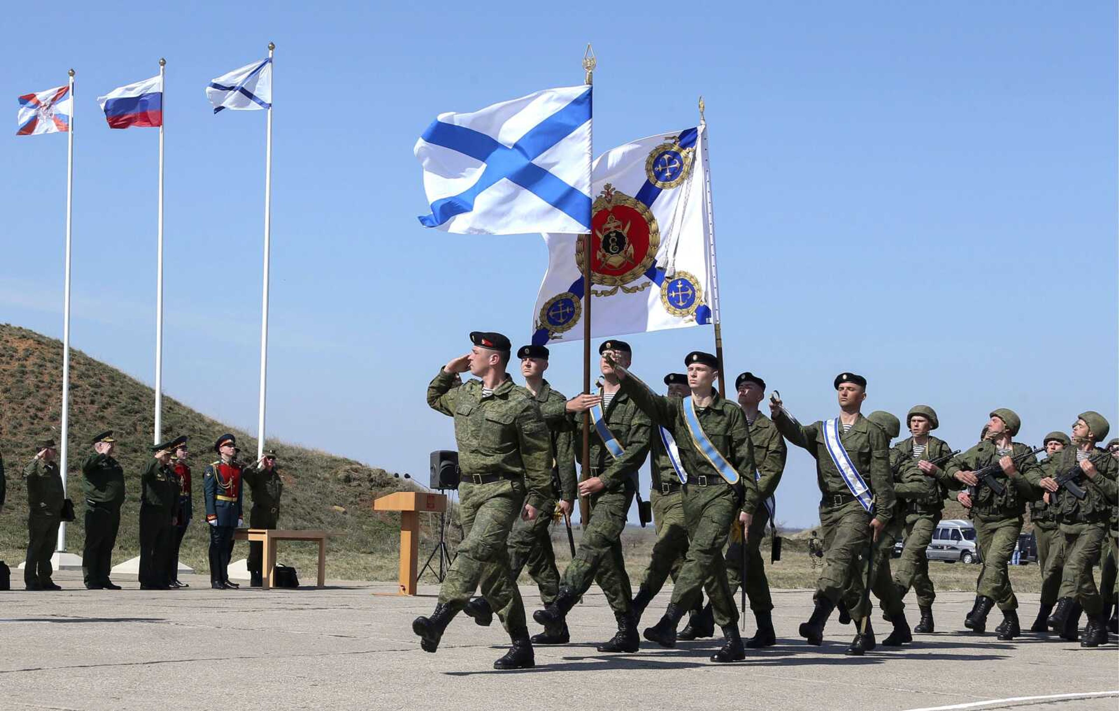
[[[448, 362], [427, 387], [427, 404], [454, 418], [464, 538], [435, 609], [413, 622], [426, 652], [436, 651], [459, 612], [483, 626], [496, 613], [513, 645], [495, 667], [532, 667], [534, 644], [570, 641], [566, 617], [595, 582], [618, 623], [617, 634], [598, 650], [633, 653], [640, 647], [640, 619], [669, 577], [671, 600], [645, 629], [649, 642], [673, 647], [677, 639], [713, 636], [717, 625], [724, 644], [713, 662], [743, 660], [747, 647], [775, 644], [759, 543], [773, 521], [787, 443], [812, 455], [821, 494], [822, 569], [812, 613], [799, 627], [808, 644], [822, 643], [825, 624], [838, 608], [840, 622], [856, 627], [847, 653], [875, 648], [871, 592], [892, 625], [884, 646], [912, 642], [913, 632], [934, 631], [935, 590], [925, 549], [949, 495], [970, 510], [982, 561], [967, 628], [985, 633], [997, 606], [1003, 614], [995, 627], [998, 638], [1021, 634], [1008, 565], [1028, 505], [1043, 575], [1041, 609], [1031, 629], [1080, 638], [1082, 646], [1109, 642], [1115, 617], [1108, 615], [1119, 588], [1112, 575], [1101, 595], [1092, 569], [1101, 553], [1119, 557], [1119, 439], [1107, 449], [1099, 446], [1109, 424], [1096, 411], [1076, 417], [1071, 437], [1047, 436], [1042, 462], [1035, 456], [1040, 448], [1014, 440], [1021, 419], [1007, 408], [993, 410], [979, 443], [961, 453], [930, 434], [939, 426], [937, 413], [918, 405], [905, 418], [911, 436], [892, 446], [901, 421], [881, 410], [863, 416], [866, 379], [855, 373], [840, 373], [833, 383], [836, 416], [802, 425], [775, 391], [770, 416], [759, 410], [765, 382], [753, 373], [735, 379], [737, 402], [720, 397], [720, 363], [711, 353], [688, 353], [686, 372], [666, 376], [668, 395], [661, 396], [629, 372], [628, 343], [605, 341], [599, 349], [596, 392], [566, 399], [544, 379], [547, 348], [517, 351], [525, 377], [520, 387], [507, 373], [513, 353], [506, 336], [473, 332], [470, 339], [471, 351]], [[467, 371], [476, 379], [462, 382], [460, 373]], [[587, 410], [591, 471], [576, 481], [574, 442], [582, 434], [580, 415]], [[650, 452], [657, 542], [633, 594], [621, 533], [638, 493], [638, 467]], [[553, 511], [568, 516], [576, 494], [587, 497], [590, 516], [579, 551], [561, 576], [547, 522]], [[903, 552], [891, 571], [891, 553], [902, 537]], [[532, 637], [516, 585], [526, 566], [544, 603], [533, 614], [543, 632]], [[756, 622], [756, 633], [746, 641], [736, 624], [740, 586]], [[472, 598], [479, 587], [481, 596]], [[903, 603], [911, 588], [921, 613], [912, 631]], [[1082, 614], [1088, 623], [1081, 635]], [[688, 623], [678, 629], [685, 615]]]

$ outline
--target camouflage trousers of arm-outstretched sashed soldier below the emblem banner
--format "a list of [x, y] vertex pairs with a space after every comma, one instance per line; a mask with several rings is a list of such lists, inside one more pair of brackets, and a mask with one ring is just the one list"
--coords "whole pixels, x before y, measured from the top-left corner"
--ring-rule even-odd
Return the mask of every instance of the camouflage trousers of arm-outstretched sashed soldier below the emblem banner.
[[684, 485], [684, 516], [688, 525], [688, 552], [673, 588], [673, 605], [680, 609], [695, 608], [707, 591], [715, 624], [733, 625], [739, 607], [726, 581], [723, 547], [731, 532], [731, 522], [739, 518], [739, 497], [722, 480], [708, 486]]

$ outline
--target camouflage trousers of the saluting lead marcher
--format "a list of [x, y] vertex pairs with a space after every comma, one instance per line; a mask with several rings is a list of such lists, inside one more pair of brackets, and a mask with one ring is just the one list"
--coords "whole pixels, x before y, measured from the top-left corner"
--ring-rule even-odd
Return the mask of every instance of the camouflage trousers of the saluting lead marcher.
[[520, 481], [459, 486], [462, 542], [439, 589], [439, 601], [458, 612], [480, 586], [482, 597], [510, 634], [528, 627], [506, 546], [524, 503], [525, 485]]

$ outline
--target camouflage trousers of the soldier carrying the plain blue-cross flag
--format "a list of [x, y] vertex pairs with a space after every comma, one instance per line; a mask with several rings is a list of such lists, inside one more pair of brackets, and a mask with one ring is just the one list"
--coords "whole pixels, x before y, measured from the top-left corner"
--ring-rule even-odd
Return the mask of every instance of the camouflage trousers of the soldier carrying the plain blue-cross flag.
[[629, 614], [633, 597], [622, 557], [622, 531], [632, 501], [630, 489], [603, 491], [591, 497], [590, 520], [583, 527], [579, 551], [563, 571], [561, 584], [581, 596], [591, 582], [598, 582], [610, 608], [621, 614]]

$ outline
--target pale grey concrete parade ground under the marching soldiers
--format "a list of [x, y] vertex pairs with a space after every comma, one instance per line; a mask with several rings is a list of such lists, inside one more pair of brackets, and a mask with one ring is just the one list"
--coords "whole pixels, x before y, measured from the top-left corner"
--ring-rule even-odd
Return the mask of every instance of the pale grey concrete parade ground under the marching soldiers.
[[[15, 577], [15, 576], [13, 576]], [[496, 672], [508, 638], [459, 615], [439, 653], [420, 650], [414, 617], [434, 606], [436, 588], [393, 595], [395, 584], [336, 582], [326, 589], [190, 588], [87, 591], [76, 572], [58, 572], [58, 592], [0, 592], [0, 709], [1101, 709], [1119, 708], [1119, 647], [1084, 650], [1026, 633], [1003, 643], [965, 634], [974, 596], [942, 594], [938, 632], [901, 650], [843, 654], [852, 627], [829, 622], [810, 647], [797, 625], [808, 590], [775, 590], [778, 645], [744, 662], [708, 662], [717, 641], [608, 655], [614, 619], [598, 588], [568, 617], [572, 643], [536, 647], [535, 670]], [[16, 584], [17, 580], [13, 580]], [[521, 586], [528, 614], [536, 589]], [[1022, 596], [1023, 626], [1037, 609]], [[653, 624], [668, 591], [653, 601]], [[908, 608], [910, 623], [915, 607]], [[989, 628], [998, 623], [993, 614]], [[876, 614], [878, 639], [886, 624]], [[529, 623], [532, 632], [538, 627]], [[753, 618], [747, 620], [753, 632]], [[1101, 693], [1102, 692], [1102, 693]], [[1088, 695], [1094, 694], [1094, 695]]]

